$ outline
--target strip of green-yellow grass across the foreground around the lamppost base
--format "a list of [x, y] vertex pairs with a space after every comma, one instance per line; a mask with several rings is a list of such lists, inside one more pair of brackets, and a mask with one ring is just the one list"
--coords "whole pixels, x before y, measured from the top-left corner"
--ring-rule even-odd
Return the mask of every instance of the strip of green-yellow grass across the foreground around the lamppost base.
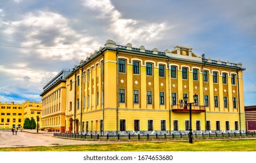
[[0, 151], [256, 151], [256, 140], [194, 140], [193, 144], [188, 141], [137, 141], [77, 146], [0, 148]]

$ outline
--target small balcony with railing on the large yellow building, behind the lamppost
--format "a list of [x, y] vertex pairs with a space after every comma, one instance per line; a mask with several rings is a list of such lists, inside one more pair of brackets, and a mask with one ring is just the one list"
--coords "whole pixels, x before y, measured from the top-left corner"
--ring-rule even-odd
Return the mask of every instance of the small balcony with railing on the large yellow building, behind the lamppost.
[[[171, 105], [173, 112], [190, 112], [190, 106], [184, 104]], [[191, 112], [205, 112], [205, 105], [191, 106]]]

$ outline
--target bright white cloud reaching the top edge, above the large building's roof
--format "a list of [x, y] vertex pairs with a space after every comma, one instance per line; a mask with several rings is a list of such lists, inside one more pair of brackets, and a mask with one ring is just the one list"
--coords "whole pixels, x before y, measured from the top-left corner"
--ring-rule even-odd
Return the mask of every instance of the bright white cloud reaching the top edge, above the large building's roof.
[[166, 23], [148, 23], [140, 20], [125, 19], [122, 14], [115, 9], [109, 0], [93, 1], [87, 0], [84, 5], [92, 10], [97, 10], [96, 19], [109, 20], [108, 33], [114, 33], [123, 41], [156, 41], [163, 38], [163, 32], [171, 26]]

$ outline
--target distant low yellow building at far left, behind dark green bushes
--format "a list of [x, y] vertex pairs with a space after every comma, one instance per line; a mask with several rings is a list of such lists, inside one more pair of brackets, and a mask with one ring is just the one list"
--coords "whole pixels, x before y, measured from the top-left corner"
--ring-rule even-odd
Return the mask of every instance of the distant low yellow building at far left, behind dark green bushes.
[[[39, 102], [29, 102], [26, 101], [23, 104], [11, 102], [1, 103], [1, 123], [0, 129], [11, 129], [16, 126], [23, 126], [25, 118], [34, 118], [37, 122], [36, 116], [41, 118], [41, 101]], [[40, 122], [38, 122], [40, 124]]]

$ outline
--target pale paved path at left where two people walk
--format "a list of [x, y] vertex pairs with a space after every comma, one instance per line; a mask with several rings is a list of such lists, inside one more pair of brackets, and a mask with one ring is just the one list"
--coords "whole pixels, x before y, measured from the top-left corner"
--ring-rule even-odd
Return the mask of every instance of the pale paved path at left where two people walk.
[[[0, 148], [5, 147], [31, 147], [31, 146], [63, 146], [82, 144], [105, 144], [104, 141], [81, 141], [72, 139], [60, 139], [53, 137], [53, 133], [37, 130], [20, 130], [13, 135], [10, 130], [0, 130]], [[111, 142], [121, 143], [121, 142]]]

